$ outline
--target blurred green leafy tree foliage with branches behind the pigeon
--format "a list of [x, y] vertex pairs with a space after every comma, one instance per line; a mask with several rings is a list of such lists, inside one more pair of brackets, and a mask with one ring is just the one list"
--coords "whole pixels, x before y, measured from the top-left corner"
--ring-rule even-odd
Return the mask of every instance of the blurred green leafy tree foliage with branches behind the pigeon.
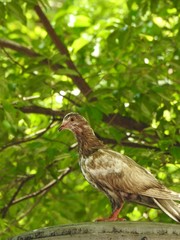
[[[179, 12], [178, 0], [0, 2], [2, 238], [110, 213], [57, 131], [70, 111], [180, 191]], [[122, 216], [172, 222], [133, 204]]]

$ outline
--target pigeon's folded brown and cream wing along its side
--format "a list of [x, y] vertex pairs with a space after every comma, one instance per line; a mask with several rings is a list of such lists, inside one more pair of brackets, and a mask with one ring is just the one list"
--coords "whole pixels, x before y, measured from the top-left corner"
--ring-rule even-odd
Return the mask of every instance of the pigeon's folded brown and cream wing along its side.
[[146, 169], [131, 158], [109, 149], [99, 149], [86, 162], [93, 179], [110, 190], [153, 198], [180, 200]]

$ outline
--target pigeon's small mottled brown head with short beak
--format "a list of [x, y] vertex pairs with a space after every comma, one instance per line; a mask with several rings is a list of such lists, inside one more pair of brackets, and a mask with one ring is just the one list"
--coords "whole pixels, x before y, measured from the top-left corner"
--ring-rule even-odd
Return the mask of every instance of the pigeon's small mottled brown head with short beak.
[[68, 129], [77, 135], [82, 134], [88, 128], [91, 129], [86, 119], [78, 113], [72, 112], [64, 117], [59, 130]]

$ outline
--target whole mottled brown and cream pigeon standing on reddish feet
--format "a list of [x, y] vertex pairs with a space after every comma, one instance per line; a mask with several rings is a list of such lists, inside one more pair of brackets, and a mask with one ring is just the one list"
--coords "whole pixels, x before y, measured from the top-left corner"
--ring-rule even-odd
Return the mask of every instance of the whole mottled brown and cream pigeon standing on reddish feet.
[[[123, 221], [119, 213], [124, 202], [160, 208], [180, 222], [180, 193], [161, 184], [148, 170], [126, 155], [109, 149], [99, 140], [79, 113], [68, 113], [59, 130], [73, 132], [78, 142], [79, 165], [85, 179], [110, 200], [112, 214], [99, 221]], [[175, 201], [174, 201], [175, 200]]]

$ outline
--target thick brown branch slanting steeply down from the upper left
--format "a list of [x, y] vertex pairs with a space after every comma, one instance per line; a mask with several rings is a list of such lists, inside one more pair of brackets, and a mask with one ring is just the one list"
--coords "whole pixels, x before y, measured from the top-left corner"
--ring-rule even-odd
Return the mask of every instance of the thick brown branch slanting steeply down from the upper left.
[[68, 68], [77, 73], [77, 76], [71, 75], [71, 74], [69, 74], [68, 76], [73, 80], [73, 82], [80, 89], [82, 94], [84, 96], [88, 96], [92, 92], [92, 89], [85, 82], [84, 78], [81, 76], [81, 74], [79, 73], [78, 69], [74, 65], [73, 61], [70, 58], [70, 54], [69, 54], [67, 48], [62, 43], [62, 41], [60, 40], [60, 38], [56, 34], [56, 32], [54, 31], [53, 27], [51, 26], [49, 20], [47, 19], [47, 17], [43, 13], [43, 11], [40, 8], [40, 6], [36, 5], [34, 7], [34, 9], [35, 9], [37, 15], [39, 16], [39, 19], [42, 22], [43, 26], [45, 27], [47, 33], [49, 34], [49, 37], [52, 39], [52, 41], [54, 42], [56, 48], [59, 50], [60, 54], [65, 55], [67, 57], [66, 65], [68, 66]]

